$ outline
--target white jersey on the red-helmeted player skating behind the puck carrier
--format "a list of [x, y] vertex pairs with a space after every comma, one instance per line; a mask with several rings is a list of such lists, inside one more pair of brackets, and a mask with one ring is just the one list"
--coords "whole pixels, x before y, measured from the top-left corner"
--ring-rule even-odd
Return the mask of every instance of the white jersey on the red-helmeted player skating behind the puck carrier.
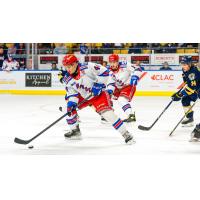
[[119, 68], [117, 71], [112, 71], [109, 67], [109, 81], [107, 84], [108, 90], [116, 88], [121, 89], [122, 87], [129, 85], [132, 76], [137, 76], [138, 79], [142, 75], [142, 69], [138, 65], [131, 64], [123, 61], [119, 62]]

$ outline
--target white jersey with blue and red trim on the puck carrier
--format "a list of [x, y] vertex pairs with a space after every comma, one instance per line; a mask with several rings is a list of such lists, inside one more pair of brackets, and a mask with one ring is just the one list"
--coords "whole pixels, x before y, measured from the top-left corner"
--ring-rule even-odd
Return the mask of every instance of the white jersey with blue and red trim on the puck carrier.
[[94, 83], [107, 83], [109, 71], [100, 64], [88, 62], [78, 64], [78, 75], [74, 78], [69, 73], [65, 73], [63, 82], [67, 88], [67, 99], [78, 103], [77, 96], [83, 98], [91, 94]]

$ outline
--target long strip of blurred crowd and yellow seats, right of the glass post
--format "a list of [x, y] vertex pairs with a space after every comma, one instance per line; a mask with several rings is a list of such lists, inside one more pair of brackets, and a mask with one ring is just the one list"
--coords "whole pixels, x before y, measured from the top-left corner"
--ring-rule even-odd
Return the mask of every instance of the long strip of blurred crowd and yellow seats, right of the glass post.
[[39, 54], [196, 53], [198, 43], [38, 43]]

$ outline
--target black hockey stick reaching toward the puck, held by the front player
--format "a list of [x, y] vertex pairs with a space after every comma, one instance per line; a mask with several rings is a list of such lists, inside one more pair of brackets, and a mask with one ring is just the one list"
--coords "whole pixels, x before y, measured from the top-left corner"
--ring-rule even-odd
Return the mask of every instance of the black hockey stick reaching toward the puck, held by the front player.
[[[82, 104], [84, 104], [87, 100], [89, 100], [93, 95], [89, 95], [87, 98], [85, 98], [79, 105], [81, 106]], [[14, 142], [15, 143], [18, 143], [18, 144], [29, 144], [30, 142], [32, 142], [34, 139], [36, 139], [37, 137], [39, 137], [42, 133], [44, 133], [45, 131], [47, 131], [49, 128], [51, 128], [52, 126], [54, 126], [56, 123], [58, 123], [61, 119], [63, 119], [64, 117], [66, 117], [67, 115], [69, 115], [70, 113], [65, 113], [64, 115], [62, 115], [61, 117], [59, 117], [56, 121], [54, 121], [53, 123], [51, 123], [49, 126], [47, 126], [45, 129], [43, 129], [42, 131], [40, 131], [37, 135], [35, 135], [34, 137], [32, 137], [31, 139], [29, 140], [22, 140], [22, 139], [19, 139], [19, 138], [15, 138], [14, 139]]]

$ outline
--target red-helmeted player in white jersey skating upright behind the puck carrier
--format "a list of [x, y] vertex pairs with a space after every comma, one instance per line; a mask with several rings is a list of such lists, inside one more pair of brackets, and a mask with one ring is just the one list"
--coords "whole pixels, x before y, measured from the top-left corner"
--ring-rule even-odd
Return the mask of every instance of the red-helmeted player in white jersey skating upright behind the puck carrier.
[[132, 111], [130, 102], [135, 94], [138, 80], [142, 75], [142, 69], [140, 66], [126, 61], [119, 62], [117, 54], [109, 56], [109, 64], [110, 79], [107, 84], [107, 91], [113, 99], [118, 100], [118, 103], [126, 114], [127, 118], [123, 121], [127, 123], [134, 122], [136, 121], [136, 117]]

